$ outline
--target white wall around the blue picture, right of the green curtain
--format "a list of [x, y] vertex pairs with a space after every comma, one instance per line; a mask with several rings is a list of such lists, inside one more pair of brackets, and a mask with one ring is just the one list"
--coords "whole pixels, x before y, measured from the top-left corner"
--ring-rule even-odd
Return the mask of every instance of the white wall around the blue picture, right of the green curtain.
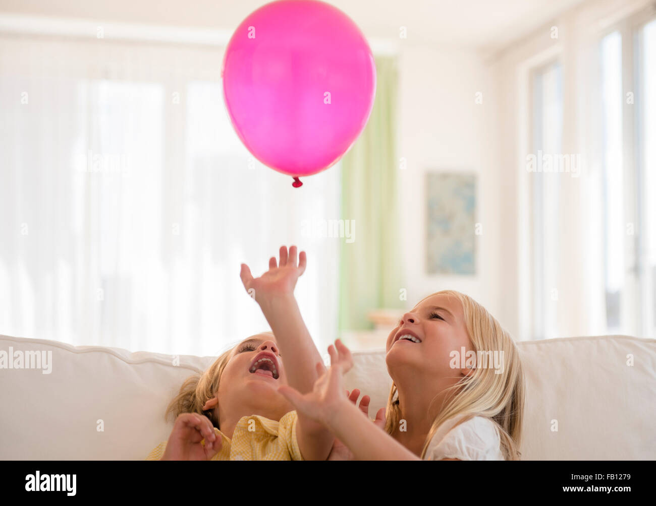
[[[476, 92], [482, 104], [476, 104]], [[502, 230], [499, 188], [505, 184], [495, 160], [497, 100], [491, 69], [478, 52], [453, 47], [402, 44], [400, 54], [399, 157], [401, 228], [407, 303], [453, 289], [482, 303], [502, 324], [514, 315], [502, 303]], [[426, 275], [426, 171], [478, 174], [476, 275]], [[474, 231], [472, 231], [473, 233]], [[508, 329], [510, 330], [510, 328]]]

